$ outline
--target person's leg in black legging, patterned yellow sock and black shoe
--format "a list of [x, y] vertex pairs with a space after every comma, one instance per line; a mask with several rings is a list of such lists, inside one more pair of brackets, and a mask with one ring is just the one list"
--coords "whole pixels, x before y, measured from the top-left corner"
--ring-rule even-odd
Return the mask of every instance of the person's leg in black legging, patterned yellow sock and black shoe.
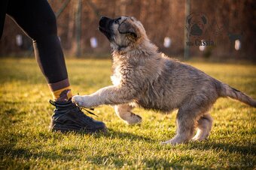
[[70, 100], [72, 97], [66, 64], [57, 37], [56, 17], [47, 0], [9, 0], [8, 15], [32, 38], [35, 58], [44, 73], [56, 109], [51, 130], [95, 132], [105, 130], [105, 124], [94, 121]]

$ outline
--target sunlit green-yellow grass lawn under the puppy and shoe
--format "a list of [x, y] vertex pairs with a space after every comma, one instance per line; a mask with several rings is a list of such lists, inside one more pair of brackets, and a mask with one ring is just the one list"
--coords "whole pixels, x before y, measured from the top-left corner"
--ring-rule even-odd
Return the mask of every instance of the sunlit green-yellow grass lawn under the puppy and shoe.
[[[255, 169], [256, 109], [230, 99], [212, 108], [212, 134], [203, 142], [160, 145], [175, 135], [175, 113], [143, 109], [140, 125], [123, 124], [110, 106], [96, 109], [107, 134], [48, 131], [53, 106], [35, 59], [0, 59], [0, 169]], [[111, 60], [66, 61], [73, 93], [110, 85]], [[256, 98], [255, 64], [190, 62]]]

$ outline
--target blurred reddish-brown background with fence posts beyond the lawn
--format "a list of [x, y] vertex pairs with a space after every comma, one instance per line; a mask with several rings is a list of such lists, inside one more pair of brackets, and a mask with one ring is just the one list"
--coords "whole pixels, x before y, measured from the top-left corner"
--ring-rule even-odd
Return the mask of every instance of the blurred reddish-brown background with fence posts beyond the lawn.
[[[254, 0], [49, 0], [49, 3], [56, 13], [58, 35], [66, 56], [109, 57], [109, 42], [98, 31], [100, 16], [135, 16], [160, 51], [175, 58], [256, 61]], [[193, 24], [203, 33], [191, 34]], [[195, 40], [211, 44], [200, 46]], [[34, 56], [32, 40], [8, 16], [0, 41], [0, 56]]]

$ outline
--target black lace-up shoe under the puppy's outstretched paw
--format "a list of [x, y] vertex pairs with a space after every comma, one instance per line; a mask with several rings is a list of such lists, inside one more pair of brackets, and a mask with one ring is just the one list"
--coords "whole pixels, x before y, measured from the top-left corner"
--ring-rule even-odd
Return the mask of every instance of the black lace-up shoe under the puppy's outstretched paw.
[[107, 129], [102, 121], [95, 121], [84, 115], [81, 108], [72, 103], [72, 100], [67, 102], [50, 100], [50, 104], [56, 106], [50, 121], [50, 130], [52, 131], [96, 133], [105, 132]]

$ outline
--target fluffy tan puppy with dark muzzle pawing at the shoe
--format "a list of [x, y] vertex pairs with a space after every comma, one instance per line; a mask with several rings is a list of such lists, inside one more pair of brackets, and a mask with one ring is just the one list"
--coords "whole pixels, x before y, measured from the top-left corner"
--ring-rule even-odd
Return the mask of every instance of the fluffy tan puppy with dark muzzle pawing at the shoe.
[[161, 112], [178, 109], [177, 133], [163, 142], [172, 145], [209, 136], [212, 129], [209, 109], [218, 97], [231, 97], [256, 106], [256, 100], [241, 91], [158, 52], [157, 46], [148, 40], [142, 23], [133, 17], [102, 17], [99, 31], [105, 34], [113, 49], [113, 85], [94, 94], [73, 97], [78, 106], [112, 105], [127, 124], [142, 121], [132, 112], [135, 106]]

